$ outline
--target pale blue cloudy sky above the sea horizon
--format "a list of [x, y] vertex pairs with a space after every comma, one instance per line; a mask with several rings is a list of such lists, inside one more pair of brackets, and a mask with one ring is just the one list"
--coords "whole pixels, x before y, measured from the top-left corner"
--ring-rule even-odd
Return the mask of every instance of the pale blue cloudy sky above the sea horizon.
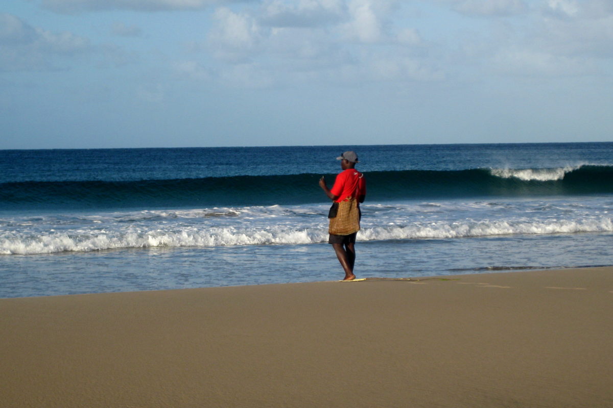
[[10, 0], [0, 149], [613, 141], [613, 0]]

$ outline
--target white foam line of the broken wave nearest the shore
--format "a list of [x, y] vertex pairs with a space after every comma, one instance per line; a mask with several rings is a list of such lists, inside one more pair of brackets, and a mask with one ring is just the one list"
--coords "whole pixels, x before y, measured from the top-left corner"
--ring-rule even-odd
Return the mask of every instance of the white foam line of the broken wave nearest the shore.
[[[509, 234], [573, 234], [612, 232], [612, 217], [585, 220], [465, 220], [366, 226], [358, 240], [449, 239]], [[222, 247], [226, 245], [304, 245], [327, 241], [325, 226], [295, 228], [189, 227], [181, 231], [91, 231], [77, 234], [40, 234], [0, 239], [0, 254], [48, 254], [65, 251], [98, 251], [117, 248]]]

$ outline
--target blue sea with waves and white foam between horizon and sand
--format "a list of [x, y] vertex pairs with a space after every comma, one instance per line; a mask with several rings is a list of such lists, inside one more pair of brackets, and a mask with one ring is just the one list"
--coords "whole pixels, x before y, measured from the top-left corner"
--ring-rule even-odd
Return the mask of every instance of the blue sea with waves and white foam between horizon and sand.
[[613, 265], [613, 143], [0, 150], [0, 297], [340, 279], [345, 150], [358, 277]]

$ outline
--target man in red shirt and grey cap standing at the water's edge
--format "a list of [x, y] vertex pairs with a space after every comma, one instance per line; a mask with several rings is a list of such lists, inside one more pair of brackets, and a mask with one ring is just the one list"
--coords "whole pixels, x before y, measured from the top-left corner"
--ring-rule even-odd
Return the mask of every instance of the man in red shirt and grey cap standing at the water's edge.
[[[345, 270], [343, 281], [356, 279], [353, 267], [356, 262], [356, 234], [360, 229], [360, 202], [364, 202], [366, 197], [366, 181], [364, 175], [356, 170], [356, 152], [348, 151], [337, 157], [341, 161], [341, 169], [334, 182], [332, 190], [326, 185], [326, 180], [322, 176], [319, 179], [319, 187], [329, 199], [338, 203], [338, 214], [330, 218], [330, 237], [328, 242], [332, 244], [337, 253], [338, 261]], [[335, 206], [337, 204], [334, 204]], [[339, 229], [338, 223], [349, 225], [348, 228]], [[339, 232], [340, 231], [340, 232]]]

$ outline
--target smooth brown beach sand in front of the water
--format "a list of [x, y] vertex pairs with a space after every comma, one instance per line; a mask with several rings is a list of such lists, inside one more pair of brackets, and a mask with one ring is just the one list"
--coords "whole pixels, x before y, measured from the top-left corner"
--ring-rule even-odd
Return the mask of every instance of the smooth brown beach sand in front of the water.
[[0, 300], [1, 407], [612, 407], [613, 267]]

